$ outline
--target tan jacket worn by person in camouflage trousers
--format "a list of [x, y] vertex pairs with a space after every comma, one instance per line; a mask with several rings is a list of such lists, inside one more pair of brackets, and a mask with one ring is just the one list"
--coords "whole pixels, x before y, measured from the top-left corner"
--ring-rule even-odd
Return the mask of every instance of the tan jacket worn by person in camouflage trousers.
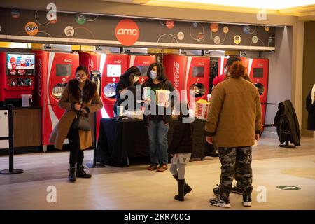
[[260, 96], [253, 83], [228, 77], [214, 87], [205, 130], [216, 147], [253, 146], [261, 127]]

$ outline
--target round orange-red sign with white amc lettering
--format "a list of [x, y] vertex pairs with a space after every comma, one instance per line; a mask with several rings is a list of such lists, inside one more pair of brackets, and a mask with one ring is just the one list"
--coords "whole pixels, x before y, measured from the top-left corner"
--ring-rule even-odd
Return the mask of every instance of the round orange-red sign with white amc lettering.
[[131, 46], [138, 41], [139, 27], [134, 20], [120, 20], [116, 26], [115, 34], [119, 43], [125, 46]]

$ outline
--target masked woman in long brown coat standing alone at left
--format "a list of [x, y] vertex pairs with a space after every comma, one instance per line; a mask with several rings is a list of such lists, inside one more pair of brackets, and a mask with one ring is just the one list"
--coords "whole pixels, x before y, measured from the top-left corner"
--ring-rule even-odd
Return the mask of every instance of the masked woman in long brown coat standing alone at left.
[[97, 85], [88, 80], [87, 77], [87, 68], [78, 66], [76, 78], [69, 81], [58, 102], [58, 106], [66, 111], [50, 135], [50, 142], [55, 143], [55, 148], [59, 149], [62, 149], [64, 139], [69, 139], [69, 181], [71, 182], [75, 182], [76, 177], [91, 178], [92, 176], [85, 173], [83, 167], [83, 150], [92, 146], [92, 134], [90, 131], [73, 127], [76, 113], [82, 111], [81, 116], [90, 116], [90, 113], [103, 107], [97, 92]]

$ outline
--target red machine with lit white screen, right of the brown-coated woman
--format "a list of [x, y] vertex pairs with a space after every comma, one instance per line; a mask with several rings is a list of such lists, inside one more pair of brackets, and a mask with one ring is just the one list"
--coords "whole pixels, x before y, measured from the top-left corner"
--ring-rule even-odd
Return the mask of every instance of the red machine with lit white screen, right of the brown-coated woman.
[[129, 55], [103, 54], [97, 52], [80, 52], [80, 64], [89, 71], [102, 73], [101, 98], [104, 107], [97, 116], [97, 136], [99, 120], [113, 118], [113, 105], [116, 101], [116, 87], [120, 76], [129, 68]]

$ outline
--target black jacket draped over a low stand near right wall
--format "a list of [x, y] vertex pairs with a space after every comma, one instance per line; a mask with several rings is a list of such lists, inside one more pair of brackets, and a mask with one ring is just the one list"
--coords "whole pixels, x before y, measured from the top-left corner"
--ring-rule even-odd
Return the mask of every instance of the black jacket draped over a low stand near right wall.
[[290, 141], [295, 146], [300, 146], [301, 134], [299, 121], [295, 113], [292, 102], [286, 100], [278, 105], [278, 112], [274, 117], [274, 125], [276, 126], [276, 132], [280, 143]]

